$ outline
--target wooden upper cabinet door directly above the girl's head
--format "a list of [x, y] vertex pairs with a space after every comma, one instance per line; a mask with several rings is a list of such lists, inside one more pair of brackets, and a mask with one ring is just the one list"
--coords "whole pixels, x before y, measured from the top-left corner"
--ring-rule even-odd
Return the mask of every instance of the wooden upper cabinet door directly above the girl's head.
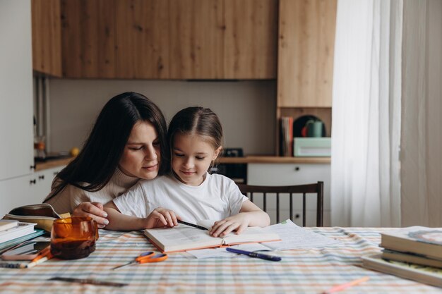
[[170, 1], [170, 78], [224, 77], [223, 0]]

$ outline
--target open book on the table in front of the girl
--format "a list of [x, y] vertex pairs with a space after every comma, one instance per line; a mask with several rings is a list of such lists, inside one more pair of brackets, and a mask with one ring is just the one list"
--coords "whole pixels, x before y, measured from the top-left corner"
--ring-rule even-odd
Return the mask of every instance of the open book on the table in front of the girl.
[[[210, 228], [213, 221], [198, 221], [199, 226]], [[241, 234], [229, 233], [222, 238], [209, 235], [209, 231], [192, 228], [179, 223], [173, 228], [145, 229], [144, 234], [155, 247], [162, 252], [180, 252], [222, 245], [237, 245], [241, 243], [261, 243], [280, 240], [276, 233], [268, 233], [263, 228], [249, 227]]]

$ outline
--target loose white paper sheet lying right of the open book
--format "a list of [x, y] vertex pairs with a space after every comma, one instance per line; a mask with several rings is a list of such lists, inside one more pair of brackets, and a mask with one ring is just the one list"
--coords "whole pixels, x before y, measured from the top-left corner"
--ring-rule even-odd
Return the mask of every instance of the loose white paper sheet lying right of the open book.
[[339, 240], [327, 238], [321, 234], [307, 231], [287, 219], [282, 223], [268, 226], [265, 230], [280, 235], [282, 241], [265, 243], [271, 250], [290, 250], [295, 248], [323, 247], [342, 244]]

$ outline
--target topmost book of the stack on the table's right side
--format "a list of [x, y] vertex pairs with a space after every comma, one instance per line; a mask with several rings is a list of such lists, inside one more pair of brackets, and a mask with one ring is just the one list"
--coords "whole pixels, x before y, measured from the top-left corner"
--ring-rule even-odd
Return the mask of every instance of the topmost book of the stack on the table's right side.
[[442, 259], [442, 228], [411, 226], [381, 233], [381, 247]]

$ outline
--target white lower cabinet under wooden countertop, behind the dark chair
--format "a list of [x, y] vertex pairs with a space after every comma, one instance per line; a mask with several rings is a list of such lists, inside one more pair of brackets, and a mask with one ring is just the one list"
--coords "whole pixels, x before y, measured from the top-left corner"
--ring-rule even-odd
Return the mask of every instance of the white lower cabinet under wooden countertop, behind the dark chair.
[[[248, 164], [249, 185], [304, 185], [324, 182], [323, 225], [330, 226], [330, 164]], [[267, 212], [276, 223], [276, 195], [268, 194]], [[316, 226], [316, 195], [306, 195], [306, 226]], [[253, 195], [253, 202], [263, 209], [263, 195]], [[293, 196], [294, 222], [302, 225], [302, 195]], [[289, 195], [280, 195], [280, 221], [289, 219]]]

